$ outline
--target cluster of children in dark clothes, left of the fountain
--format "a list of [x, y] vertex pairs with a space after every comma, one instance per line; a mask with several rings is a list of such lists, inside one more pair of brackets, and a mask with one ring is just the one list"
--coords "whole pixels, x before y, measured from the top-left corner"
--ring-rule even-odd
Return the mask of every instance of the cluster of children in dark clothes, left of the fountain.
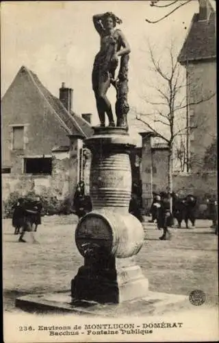
[[31, 233], [32, 240], [36, 242], [34, 232], [41, 224], [42, 203], [40, 197], [34, 199], [18, 198], [14, 206], [12, 216], [12, 226], [14, 226], [14, 235], [19, 235], [18, 241], [25, 243], [26, 232]]

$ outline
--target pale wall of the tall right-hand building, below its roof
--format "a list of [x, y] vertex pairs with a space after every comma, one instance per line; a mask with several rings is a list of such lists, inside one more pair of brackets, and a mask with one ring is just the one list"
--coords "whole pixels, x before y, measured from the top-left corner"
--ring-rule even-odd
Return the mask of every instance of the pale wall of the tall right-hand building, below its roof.
[[190, 131], [190, 161], [193, 172], [201, 167], [205, 150], [216, 137], [216, 75], [216, 60], [198, 61], [188, 65], [190, 125], [196, 126]]

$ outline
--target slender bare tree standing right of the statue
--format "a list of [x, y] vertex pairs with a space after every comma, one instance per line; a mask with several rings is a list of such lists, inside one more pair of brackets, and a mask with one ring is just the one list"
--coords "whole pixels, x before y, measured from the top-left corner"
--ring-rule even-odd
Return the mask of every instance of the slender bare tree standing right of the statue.
[[[183, 68], [177, 62], [174, 43], [172, 42], [166, 50], [167, 54], [163, 51], [162, 58], [155, 58], [155, 51], [149, 44], [151, 61], [149, 71], [153, 73], [153, 81], [150, 79], [149, 82], [153, 91], [150, 91], [150, 99], [144, 95], [144, 100], [148, 106], [153, 107], [153, 110], [150, 113], [136, 115], [136, 119], [144, 123], [156, 137], [164, 140], [168, 146], [168, 191], [172, 193], [172, 159], [176, 139], [179, 135], [186, 135], [190, 130], [201, 125], [200, 120], [197, 123], [190, 123], [186, 120], [186, 108], [211, 99], [215, 93], [209, 94], [205, 98], [201, 95], [196, 102], [188, 104], [184, 91], [185, 87], [188, 87], [188, 82], [185, 80]], [[149, 75], [147, 77], [149, 78]], [[203, 118], [204, 122], [205, 118]]]

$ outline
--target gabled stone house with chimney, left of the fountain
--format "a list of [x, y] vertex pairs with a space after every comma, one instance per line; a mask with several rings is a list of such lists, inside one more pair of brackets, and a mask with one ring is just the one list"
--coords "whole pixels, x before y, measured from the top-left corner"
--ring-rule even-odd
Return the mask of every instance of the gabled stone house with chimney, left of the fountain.
[[[60, 99], [37, 75], [21, 67], [1, 101], [3, 197], [11, 191], [53, 189], [64, 198], [83, 171], [83, 139], [92, 135], [90, 114], [76, 115], [73, 90]], [[4, 193], [5, 191], [5, 193]]]

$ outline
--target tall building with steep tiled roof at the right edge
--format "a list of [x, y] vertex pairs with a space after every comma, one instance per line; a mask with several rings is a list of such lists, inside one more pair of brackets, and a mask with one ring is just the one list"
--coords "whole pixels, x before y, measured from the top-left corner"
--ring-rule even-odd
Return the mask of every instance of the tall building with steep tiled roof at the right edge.
[[178, 60], [186, 69], [191, 171], [216, 137], [216, 1], [200, 0]]

